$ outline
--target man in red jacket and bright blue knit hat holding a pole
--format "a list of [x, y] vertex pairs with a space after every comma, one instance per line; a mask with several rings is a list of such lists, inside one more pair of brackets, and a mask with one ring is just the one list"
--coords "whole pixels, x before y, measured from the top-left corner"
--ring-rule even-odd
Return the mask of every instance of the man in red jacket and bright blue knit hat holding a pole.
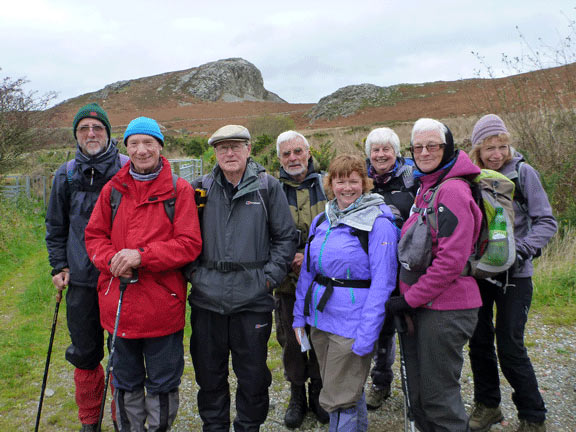
[[[100, 270], [100, 319], [109, 333], [119, 277], [138, 270], [138, 282], [124, 293], [112, 359], [121, 430], [144, 431], [146, 421], [148, 431], [167, 430], [176, 418], [184, 369], [186, 281], [180, 268], [198, 256], [202, 240], [194, 190], [183, 179], [174, 181], [160, 155], [158, 123], [132, 120], [124, 144], [130, 164], [102, 189], [86, 227], [86, 249]], [[113, 196], [121, 197], [115, 214]]]

